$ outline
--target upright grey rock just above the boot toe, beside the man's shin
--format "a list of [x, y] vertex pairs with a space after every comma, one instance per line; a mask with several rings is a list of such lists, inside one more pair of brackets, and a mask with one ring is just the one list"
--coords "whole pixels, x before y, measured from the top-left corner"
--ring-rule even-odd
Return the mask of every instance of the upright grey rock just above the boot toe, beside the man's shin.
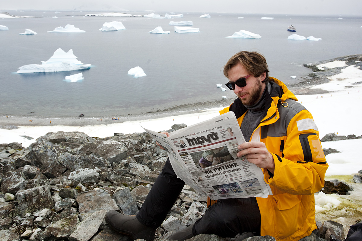
[[112, 198], [117, 203], [120, 210], [126, 215], [135, 215], [138, 212], [138, 207], [134, 202], [129, 188], [116, 191]]

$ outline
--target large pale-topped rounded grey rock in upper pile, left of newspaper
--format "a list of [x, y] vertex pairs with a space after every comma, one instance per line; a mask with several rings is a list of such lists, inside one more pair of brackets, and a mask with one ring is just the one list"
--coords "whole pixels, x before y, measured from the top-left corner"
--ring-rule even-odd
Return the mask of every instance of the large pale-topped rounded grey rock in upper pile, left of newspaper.
[[123, 143], [115, 140], [103, 141], [95, 150], [97, 154], [108, 160], [110, 164], [126, 158], [127, 151], [128, 149]]

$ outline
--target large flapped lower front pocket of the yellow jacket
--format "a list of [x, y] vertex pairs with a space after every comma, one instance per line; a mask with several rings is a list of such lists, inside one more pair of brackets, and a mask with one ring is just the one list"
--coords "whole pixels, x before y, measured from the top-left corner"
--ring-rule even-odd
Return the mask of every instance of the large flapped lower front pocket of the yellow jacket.
[[274, 195], [275, 234], [279, 239], [297, 231], [300, 195], [283, 193]]

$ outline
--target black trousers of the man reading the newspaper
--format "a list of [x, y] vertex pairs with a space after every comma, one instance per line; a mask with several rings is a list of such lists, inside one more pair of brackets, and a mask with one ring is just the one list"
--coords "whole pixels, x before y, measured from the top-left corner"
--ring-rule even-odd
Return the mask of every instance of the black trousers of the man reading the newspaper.
[[[137, 219], [147, 227], [157, 228], [180, 195], [185, 182], [176, 176], [169, 159], [148, 193]], [[238, 233], [255, 232], [260, 235], [260, 211], [256, 198], [221, 199], [198, 219], [193, 234], [217, 234], [235, 237]]]

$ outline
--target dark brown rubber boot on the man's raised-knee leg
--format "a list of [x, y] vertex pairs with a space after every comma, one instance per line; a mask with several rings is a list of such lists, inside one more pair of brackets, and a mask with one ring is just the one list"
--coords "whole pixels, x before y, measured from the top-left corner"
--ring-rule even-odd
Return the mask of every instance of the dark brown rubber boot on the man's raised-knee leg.
[[130, 236], [133, 240], [143, 238], [152, 241], [155, 239], [156, 229], [143, 225], [136, 216], [127, 216], [117, 211], [109, 211], [105, 216], [105, 220], [110, 228]]

